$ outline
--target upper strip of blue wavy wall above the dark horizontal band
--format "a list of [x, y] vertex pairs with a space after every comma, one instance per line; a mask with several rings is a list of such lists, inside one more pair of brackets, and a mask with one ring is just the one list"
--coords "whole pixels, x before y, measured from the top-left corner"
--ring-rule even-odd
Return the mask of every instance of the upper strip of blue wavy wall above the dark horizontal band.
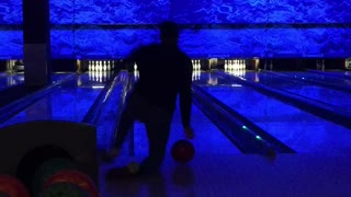
[[[350, 23], [350, 1], [332, 0], [50, 0], [50, 19], [53, 24], [150, 24], [167, 19], [191, 24], [330, 24]], [[22, 0], [2, 0], [0, 24], [20, 23]]]

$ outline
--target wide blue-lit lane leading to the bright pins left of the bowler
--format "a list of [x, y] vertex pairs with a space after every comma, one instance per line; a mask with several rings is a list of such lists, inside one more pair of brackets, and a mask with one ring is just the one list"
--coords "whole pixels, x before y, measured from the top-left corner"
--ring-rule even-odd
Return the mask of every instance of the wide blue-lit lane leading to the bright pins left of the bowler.
[[0, 127], [43, 119], [81, 121], [104, 84], [105, 82], [93, 81], [88, 73], [77, 74], [73, 80], [55, 88]]

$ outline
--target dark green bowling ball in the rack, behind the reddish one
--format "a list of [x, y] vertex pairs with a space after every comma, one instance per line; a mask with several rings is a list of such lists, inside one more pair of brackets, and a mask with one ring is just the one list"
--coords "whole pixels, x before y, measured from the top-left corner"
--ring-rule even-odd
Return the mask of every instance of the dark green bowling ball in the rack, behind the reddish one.
[[63, 170], [72, 170], [76, 165], [72, 161], [66, 158], [55, 158], [44, 162], [37, 167], [32, 181], [32, 189], [34, 196], [41, 193], [45, 182], [55, 173]]

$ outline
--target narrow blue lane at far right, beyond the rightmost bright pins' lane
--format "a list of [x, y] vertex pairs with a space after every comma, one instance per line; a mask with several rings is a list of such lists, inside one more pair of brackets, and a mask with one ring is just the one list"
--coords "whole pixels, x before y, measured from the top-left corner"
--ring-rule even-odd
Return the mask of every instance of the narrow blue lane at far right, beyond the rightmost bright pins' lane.
[[[294, 74], [293, 72], [292, 76]], [[340, 111], [347, 109], [351, 113], [351, 93], [348, 92], [324, 88], [313, 83], [305, 83], [303, 79], [284, 79], [267, 72], [247, 72], [244, 78], [248, 81], [254, 81], [270, 88], [284, 90], [299, 96], [315, 100], [316, 103], [332, 105]]]

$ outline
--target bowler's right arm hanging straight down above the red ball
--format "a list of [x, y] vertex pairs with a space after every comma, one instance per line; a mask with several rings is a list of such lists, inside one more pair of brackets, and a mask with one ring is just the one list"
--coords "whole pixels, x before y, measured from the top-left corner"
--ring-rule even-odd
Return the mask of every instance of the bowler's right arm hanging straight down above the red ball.
[[[192, 105], [192, 72], [193, 72], [193, 65], [191, 59], [186, 59], [185, 67], [183, 72], [183, 79], [180, 85], [180, 111], [182, 116], [182, 124], [185, 129], [185, 134], [192, 132], [191, 129], [191, 105]], [[192, 135], [192, 134], [191, 134]], [[189, 137], [189, 136], [188, 136]]]

